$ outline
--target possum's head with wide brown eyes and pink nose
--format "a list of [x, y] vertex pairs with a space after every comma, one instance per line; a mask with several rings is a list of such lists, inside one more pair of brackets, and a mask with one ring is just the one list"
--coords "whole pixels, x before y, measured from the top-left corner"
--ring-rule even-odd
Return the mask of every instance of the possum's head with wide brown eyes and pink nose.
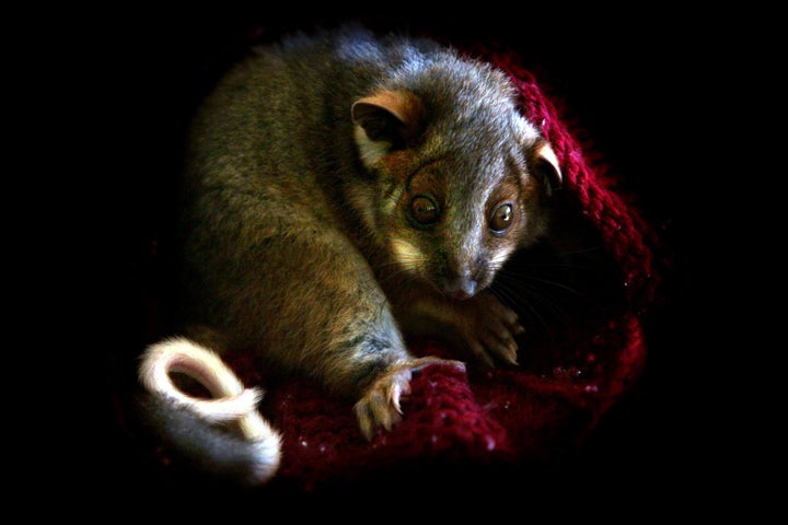
[[401, 270], [467, 299], [545, 233], [546, 200], [561, 175], [506, 82], [447, 75], [430, 75], [439, 88], [381, 89], [355, 102], [371, 178], [349, 194]]

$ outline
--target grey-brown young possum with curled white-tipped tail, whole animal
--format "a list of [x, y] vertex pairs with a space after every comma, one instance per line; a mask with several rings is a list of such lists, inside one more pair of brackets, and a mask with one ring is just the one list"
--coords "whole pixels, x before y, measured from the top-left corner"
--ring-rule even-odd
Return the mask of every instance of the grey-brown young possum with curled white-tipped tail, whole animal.
[[[254, 348], [316, 380], [355, 402], [368, 439], [401, 419], [412, 372], [456, 363], [417, 359], [404, 335], [517, 364], [523, 328], [488, 287], [545, 234], [561, 176], [515, 95], [487, 63], [355, 26], [292, 35], [237, 63], [189, 135], [184, 276], [187, 322], [200, 328], [142, 357], [160, 435], [219, 476], [275, 472], [270, 428], [240, 440], [208, 423], [257, 399], [212, 350]], [[175, 371], [227, 398], [185, 400]]]

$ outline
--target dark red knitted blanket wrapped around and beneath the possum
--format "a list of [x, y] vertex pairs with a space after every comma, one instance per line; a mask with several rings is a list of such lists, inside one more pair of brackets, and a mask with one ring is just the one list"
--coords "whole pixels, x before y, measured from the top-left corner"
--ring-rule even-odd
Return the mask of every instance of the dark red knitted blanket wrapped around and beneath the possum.
[[[613, 266], [610, 292], [618, 306], [589, 315], [560, 336], [521, 346], [525, 355], [517, 369], [427, 368], [413, 380], [403, 421], [372, 442], [359, 432], [349, 401], [324, 395], [306, 380], [278, 380], [251, 353], [230, 357], [247, 386], [266, 390], [260, 412], [283, 435], [281, 465], [270, 486], [310, 492], [402, 465], [485, 466], [563, 454], [582, 444], [642, 371], [644, 313], [658, 283], [653, 231], [616, 191], [603, 166], [590, 161], [587, 144], [573, 137], [557, 102], [515, 56], [473, 52], [511, 74], [524, 114], [552, 142], [564, 174], [563, 198], [596, 234]], [[578, 312], [582, 316], [586, 310]], [[413, 351], [456, 357], [434, 341], [419, 341]], [[153, 457], [166, 463], [166, 451]]]

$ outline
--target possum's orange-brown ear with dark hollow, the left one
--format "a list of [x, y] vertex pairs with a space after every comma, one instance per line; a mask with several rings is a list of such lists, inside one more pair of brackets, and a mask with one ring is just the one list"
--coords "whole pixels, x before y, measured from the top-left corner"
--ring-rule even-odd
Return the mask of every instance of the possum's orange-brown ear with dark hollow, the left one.
[[361, 159], [374, 164], [381, 155], [413, 145], [419, 135], [422, 107], [405, 91], [380, 91], [356, 101], [350, 116]]

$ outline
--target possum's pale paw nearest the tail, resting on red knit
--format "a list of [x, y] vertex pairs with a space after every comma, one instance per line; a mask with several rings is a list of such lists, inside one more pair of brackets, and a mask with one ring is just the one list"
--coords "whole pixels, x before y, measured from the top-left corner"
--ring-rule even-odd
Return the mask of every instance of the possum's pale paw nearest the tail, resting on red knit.
[[429, 364], [445, 364], [465, 369], [465, 364], [461, 361], [433, 357], [412, 359], [392, 366], [367, 388], [363, 397], [354, 407], [364, 438], [371, 440], [374, 438], [376, 429], [382, 427], [391, 430], [394, 424], [402, 421], [403, 412], [399, 400], [410, 393], [413, 372]]

